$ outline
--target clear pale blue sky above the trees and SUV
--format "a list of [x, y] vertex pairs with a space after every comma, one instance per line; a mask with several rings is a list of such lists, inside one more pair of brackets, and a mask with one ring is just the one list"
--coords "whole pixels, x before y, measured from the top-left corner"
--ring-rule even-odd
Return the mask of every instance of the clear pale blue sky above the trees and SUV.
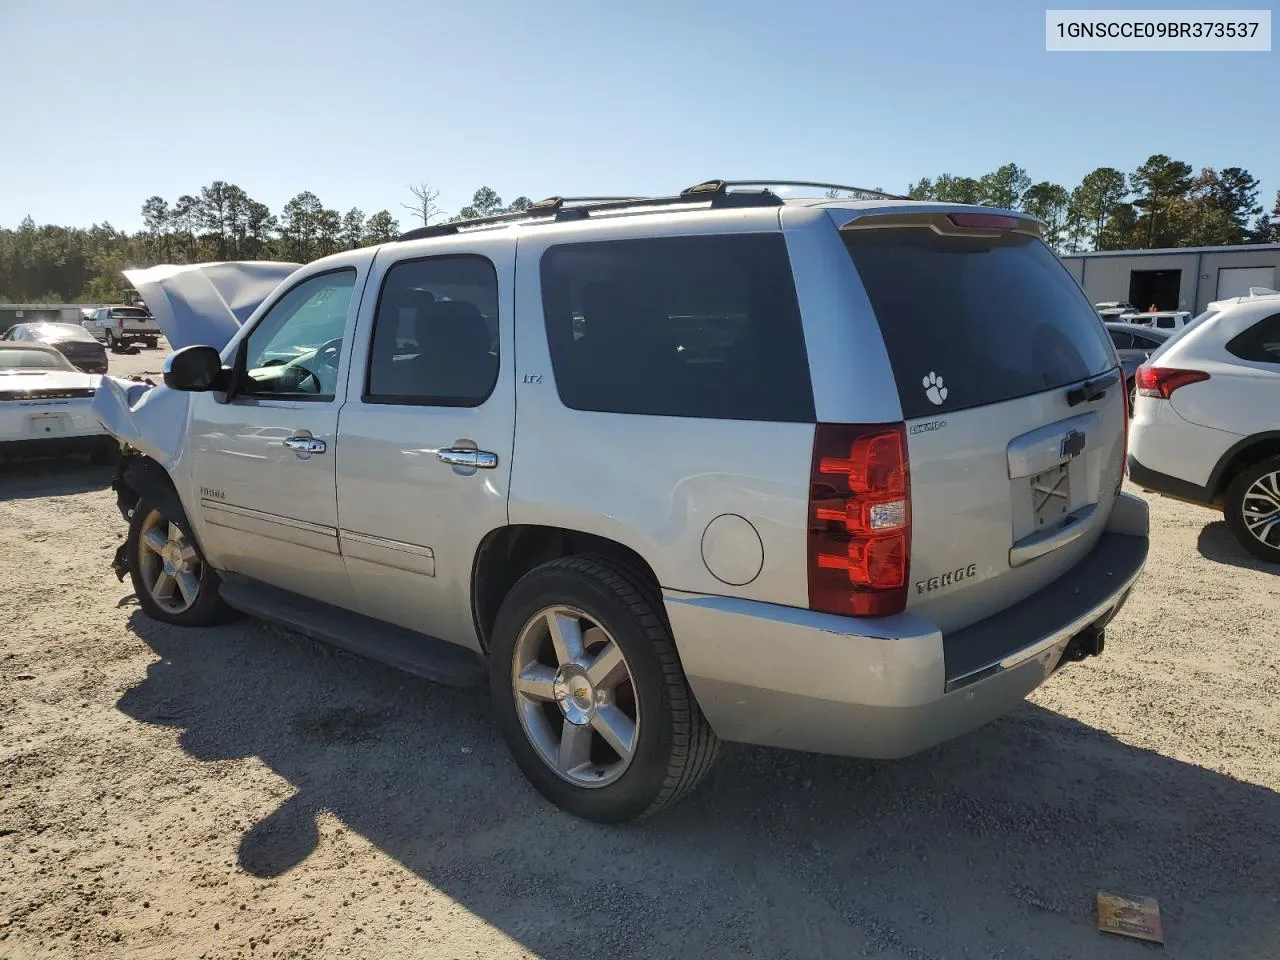
[[0, 0], [0, 225], [137, 229], [212, 179], [407, 225], [417, 180], [447, 211], [1010, 160], [1070, 188], [1155, 152], [1244, 166], [1271, 206], [1280, 52], [1048, 54], [1044, 6]]

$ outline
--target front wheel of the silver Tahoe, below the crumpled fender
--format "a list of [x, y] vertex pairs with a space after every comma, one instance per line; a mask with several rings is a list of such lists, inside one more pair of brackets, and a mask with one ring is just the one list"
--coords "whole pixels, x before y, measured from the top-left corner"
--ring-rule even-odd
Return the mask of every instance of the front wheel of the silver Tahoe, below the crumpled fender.
[[129, 518], [125, 558], [138, 605], [152, 620], [204, 627], [230, 617], [232, 609], [218, 593], [218, 573], [178, 525], [145, 497]]

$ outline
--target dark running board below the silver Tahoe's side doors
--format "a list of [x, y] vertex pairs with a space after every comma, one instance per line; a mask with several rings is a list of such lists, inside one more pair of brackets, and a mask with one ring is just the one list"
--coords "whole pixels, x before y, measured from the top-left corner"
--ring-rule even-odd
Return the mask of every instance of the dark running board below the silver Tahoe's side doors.
[[484, 663], [474, 652], [415, 630], [236, 575], [224, 575], [221, 595], [241, 613], [436, 684], [476, 686], [485, 681]]

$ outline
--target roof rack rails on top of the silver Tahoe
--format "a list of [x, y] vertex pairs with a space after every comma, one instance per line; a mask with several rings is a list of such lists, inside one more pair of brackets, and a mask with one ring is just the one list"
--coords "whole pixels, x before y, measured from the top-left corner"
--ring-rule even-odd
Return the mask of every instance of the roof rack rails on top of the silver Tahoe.
[[[611, 212], [645, 207], [678, 207], [685, 204], [708, 204], [712, 210], [732, 207], [782, 206], [782, 197], [769, 187], [822, 187], [823, 189], [842, 189], [865, 193], [884, 200], [906, 200], [895, 193], [867, 189], [864, 187], [845, 187], [837, 183], [813, 183], [809, 180], [704, 180], [687, 187], [672, 197], [547, 197], [530, 204], [525, 210], [493, 216], [477, 216], [471, 220], [433, 224], [402, 233], [397, 241], [426, 239], [429, 237], [448, 237], [471, 230], [472, 228], [498, 227], [517, 223], [563, 223], [585, 220], [596, 212]], [[730, 189], [730, 187], [760, 187], [760, 189]]]

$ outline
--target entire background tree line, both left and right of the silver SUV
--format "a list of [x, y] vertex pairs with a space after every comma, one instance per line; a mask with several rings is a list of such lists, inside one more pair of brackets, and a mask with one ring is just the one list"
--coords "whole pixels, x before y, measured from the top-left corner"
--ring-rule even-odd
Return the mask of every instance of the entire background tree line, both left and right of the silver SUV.
[[[401, 206], [416, 225], [515, 212], [527, 197], [504, 204], [481, 187], [452, 216], [436, 204], [429, 183], [411, 184]], [[1280, 243], [1280, 192], [1263, 212], [1258, 180], [1248, 170], [1203, 168], [1164, 154], [1124, 173], [1100, 166], [1071, 189], [1033, 183], [1018, 164], [980, 177], [943, 173], [908, 188], [916, 200], [986, 204], [1025, 210], [1047, 224], [1050, 246], [1059, 252], [1210, 247], [1233, 243]], [[173, 202], [161, 196], [142, 204], [143, 229], [129, 233], [111, 224], [88, 228], [37, 227], [28, 216], [17, 229], [0, 228], [0, 302], [111, 302], [123, 293], [125, 268], [207, 260], [289, 260], [308, 262], [339, 250], [385, 243], [401, 233], [389, 210], [365, 215], [326, 207], [311, 191], [289, 200], [279, 212], [241, 187], [214, 180]]]

